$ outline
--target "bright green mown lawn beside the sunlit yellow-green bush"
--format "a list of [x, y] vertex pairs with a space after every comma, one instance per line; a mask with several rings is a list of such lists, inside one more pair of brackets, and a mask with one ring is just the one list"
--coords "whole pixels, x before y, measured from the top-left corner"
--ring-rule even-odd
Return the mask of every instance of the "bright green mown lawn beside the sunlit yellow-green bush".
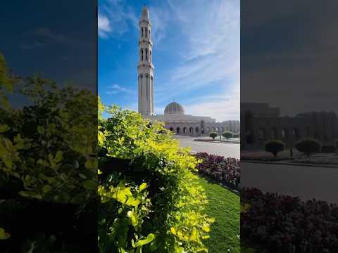
[[210, 238], [205, 241], [210, 253], [240, 252], [239, 196], [216, 183], [199, 179], [208, 196], [206, 214], [215, 219]]

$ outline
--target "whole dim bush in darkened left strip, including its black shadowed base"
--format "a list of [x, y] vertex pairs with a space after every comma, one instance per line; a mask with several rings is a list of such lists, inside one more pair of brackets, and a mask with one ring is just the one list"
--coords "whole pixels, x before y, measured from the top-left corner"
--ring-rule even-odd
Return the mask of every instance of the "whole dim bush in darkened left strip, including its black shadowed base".
[[[58, 89], [39, 75], [19, 79], [1, 54], [0, 80], [0, 227], [13, 235], [6, 245], [28, 252], [25, 242], [53, 235], [56, 242], [48, 249], [60, 252], [63, 245], [67, 252], [80, 235], [89, 249], [87, 238], [96, 234], [87, 216], [96, 209], [96, 96], [70, 86]], [[10, 93], [27, 98], [27, 105], [12, 108]], [[53, 216], [58, 209], [70, 212]], [[77, 223], [84, 216], [89, 232]]]

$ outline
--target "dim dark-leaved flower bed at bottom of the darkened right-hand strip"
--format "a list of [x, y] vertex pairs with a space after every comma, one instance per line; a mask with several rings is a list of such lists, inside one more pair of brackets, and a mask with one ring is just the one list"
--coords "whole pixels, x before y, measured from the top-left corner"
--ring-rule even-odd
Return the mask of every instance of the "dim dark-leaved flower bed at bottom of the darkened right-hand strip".
[[244, 188], [241, 207], [241, 239], [266, 252], [338, 252], [337, 205]]

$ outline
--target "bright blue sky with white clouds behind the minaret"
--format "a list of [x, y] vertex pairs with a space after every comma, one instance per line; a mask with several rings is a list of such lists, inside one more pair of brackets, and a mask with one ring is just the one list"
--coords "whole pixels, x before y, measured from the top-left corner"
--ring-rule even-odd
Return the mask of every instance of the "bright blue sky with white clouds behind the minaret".
[[99, 0], [99, 96], [137, 110], [138, 22], [149, 8], [155, 112], [175, 100], [187, 114], [239, 119], [238, 0]]

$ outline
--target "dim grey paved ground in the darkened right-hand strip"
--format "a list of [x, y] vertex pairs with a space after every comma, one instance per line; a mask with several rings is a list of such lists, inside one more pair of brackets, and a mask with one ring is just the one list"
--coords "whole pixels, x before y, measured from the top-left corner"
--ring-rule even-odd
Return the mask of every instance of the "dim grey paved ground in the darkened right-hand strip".
[[338, 168], [241, 162], [242, 187], [338, 203]]

